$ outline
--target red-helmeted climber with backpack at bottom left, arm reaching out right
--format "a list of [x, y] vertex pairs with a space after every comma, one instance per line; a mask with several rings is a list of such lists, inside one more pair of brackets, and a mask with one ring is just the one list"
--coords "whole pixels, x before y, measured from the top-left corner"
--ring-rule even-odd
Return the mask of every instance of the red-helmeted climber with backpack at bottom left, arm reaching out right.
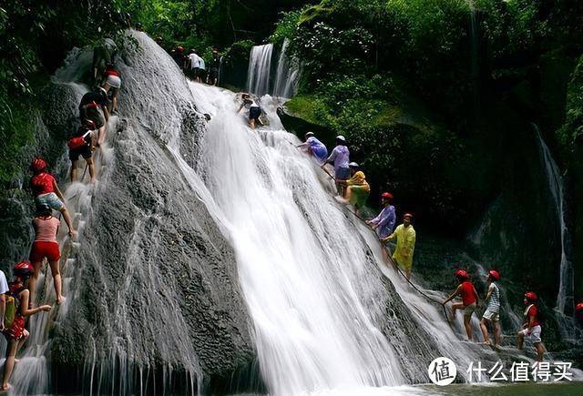
[[8, 346], [6, 347], [6, 360], [4, 365], [4, 378], [2, 380], [2, 391], [8, 391], [10, 389], [10, 378], [12, 377], [12, 371], [15, 368], [15, 357], [16, 353], [26, 339], [30, 335], [28, 330], [25, 329], [26, 318], [32, 315], [36, 315], [41, 311], [49, 311], [52, 309], [50, 305], [43, 305], [38, 308], [29, 309], [29, 291], [28, 291], [28, 281], [31, 275], [34, 273], [35, 269], [33, 266], [26, 261], [19, 262], [15, 265], [13, 273], [15, 275], [15, 280], [10, 283], [8, 295], [14, 299], [15, 310], [14, 317], [5, 318], [10, 320], [10, 326], [5, 326], [6, 329], [3, 331]]

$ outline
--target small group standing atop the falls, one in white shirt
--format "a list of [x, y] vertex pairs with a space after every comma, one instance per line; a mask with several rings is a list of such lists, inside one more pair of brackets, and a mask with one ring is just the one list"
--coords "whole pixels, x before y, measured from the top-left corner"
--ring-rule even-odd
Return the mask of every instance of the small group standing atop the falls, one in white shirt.
[[[159, 46], [162, 46], [162, 37], [158, 37], [156, 42]], [[184, 71], [184, 74], [189, 76], [193, 81], [206, 83], [210, 86], [216, 86], [219, 83], [222, 58], [216, 49], [212, 50], [212, 58], [208, 67], [204, 58], [199, 56], [194, 48], [191, 48], [188, 54], [185, 54], [184, 47], [177, 46], [170, 51], [170, 56], [172, 56], [174, 62]], [[207, 68], [209, 69], [208, 72]]]

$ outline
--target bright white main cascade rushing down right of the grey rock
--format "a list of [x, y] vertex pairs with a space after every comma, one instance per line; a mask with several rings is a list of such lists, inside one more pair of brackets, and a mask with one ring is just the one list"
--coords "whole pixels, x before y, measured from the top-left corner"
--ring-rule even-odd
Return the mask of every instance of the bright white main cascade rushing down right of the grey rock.
[[[200, 85], [191, 89], [197, 107], [220, 115], [210, 121], [198, 171], [210, 191], [203, 199], [212, 199], [210, 212], [225, 225], [237, 252], [269, 391], [361, 392], [405, 383], [399, 353], [411, 340], [404, 335], [387, 340], [377, 326], [391, 302], [372, 269], [374, 261], [382, 262], [373, 232], [347, 218], [332, 198], [330, 180], [293, 147], [297, 139], [279, 129], [271, 107], [265, 106], [271, 129], [254, 131], [235, 115], [234, 94]], [[271, 97], [261, 102], [269, 104]], [[404, 286], [393, 270], [384, 264], [381, 269], [429, 342], [438, 345], [426, 349], [462, 365], [477, 360], [440, 310]], [[414, 356], [405, 359], [420, 363]]]

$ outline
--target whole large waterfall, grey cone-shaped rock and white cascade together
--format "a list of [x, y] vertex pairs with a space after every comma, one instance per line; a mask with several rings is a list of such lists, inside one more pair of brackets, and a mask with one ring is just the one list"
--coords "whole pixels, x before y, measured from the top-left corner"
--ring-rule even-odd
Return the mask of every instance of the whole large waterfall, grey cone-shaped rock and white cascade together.
[[[146, 34], [130, 35], [99, 181], [66, 187], [80, 230], [66, 304], [31, 320], [17, 393], [63, 386], [50, 383], [59, 362], [83, 393], [194, 394], [257, 357], [271, 394], [302, 395], [411, 392], [400, 386], [428, 382], [439, 356], [462, 381], [470, 362], [498, 359], [460, 341], [461, 312], [452, 329], [384, 263], [271, 96], [270, 126], [251, 130], [234, 93], [187, 81]], [[49, 124], [77, 117], [90, 59], [74, 53], [57, 73]], [[46, 278], [39, 288], [54, 300]]]

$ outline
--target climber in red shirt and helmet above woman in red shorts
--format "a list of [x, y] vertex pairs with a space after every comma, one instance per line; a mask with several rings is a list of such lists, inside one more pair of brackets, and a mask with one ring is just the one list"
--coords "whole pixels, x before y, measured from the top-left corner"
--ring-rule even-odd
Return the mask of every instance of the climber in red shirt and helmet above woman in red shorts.
[[73, 238], [77, 231], [73, 228], [71, 216], [63, 203], [65, 198], [56, 184], [56, 179], [46, 170], [46, 161], [41, 157], [35, 157], [29, 169], [33, 172], [30, 184], [35, 196], [36, 207], [47, 205], [49, 208], [61, 212], [65, 218], [66, 226], [69, 228], [69, 236]]

